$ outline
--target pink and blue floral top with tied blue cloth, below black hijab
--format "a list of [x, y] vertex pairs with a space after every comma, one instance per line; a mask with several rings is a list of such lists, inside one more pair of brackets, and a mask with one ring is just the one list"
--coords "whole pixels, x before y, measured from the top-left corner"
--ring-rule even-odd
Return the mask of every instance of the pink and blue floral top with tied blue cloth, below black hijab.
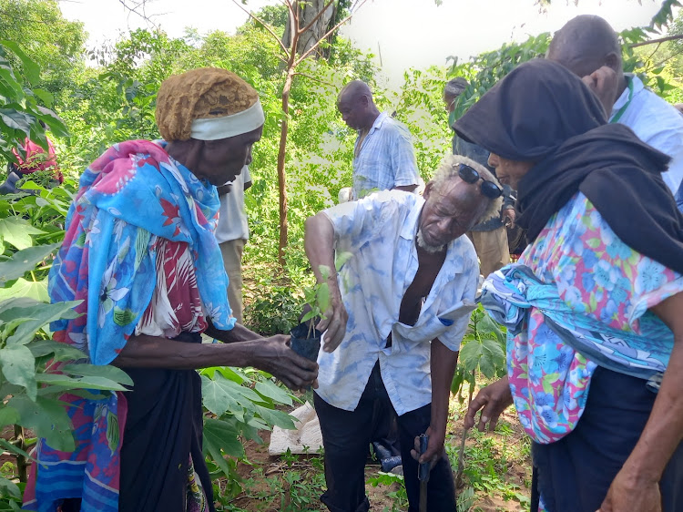
[[[533, 282], [513, 272], [509, 286], [486, 286], [508, 302], [494, 314], [516, 325], [508, 332], [507, 365], [517, 415], [537, 443], [547, 444], [574, 429], [596, 364], [642, 378], [666, 368], [671, 335], [648, 310], [683, 291], [683, 276], [619, 240], [582, 193], [548, 221], [519, 262]], [[527, 306], [525, 314], [515, 311]]]

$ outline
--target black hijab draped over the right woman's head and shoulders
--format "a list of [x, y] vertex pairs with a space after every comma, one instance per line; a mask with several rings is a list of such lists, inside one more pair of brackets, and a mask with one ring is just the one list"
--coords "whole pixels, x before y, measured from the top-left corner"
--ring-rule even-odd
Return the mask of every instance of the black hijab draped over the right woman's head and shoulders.
[[669, 158], [624, 125], [565, 67], [516, 67], [454, 124], [505, 159], [533, 161], [517, 190], [517, 223], [534, 241], [577, 191], [629, 247], [683, 273], [683, 216], [661, 173]]

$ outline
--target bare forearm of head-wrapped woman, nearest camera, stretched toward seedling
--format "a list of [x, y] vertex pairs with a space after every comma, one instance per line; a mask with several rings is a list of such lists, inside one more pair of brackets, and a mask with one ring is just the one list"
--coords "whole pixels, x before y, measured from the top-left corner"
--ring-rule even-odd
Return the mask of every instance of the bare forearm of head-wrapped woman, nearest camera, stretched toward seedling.
[[112, 362], [119, 368], [195, 370], [209, 366], [258, 366], [258, 343], [184, 343], [158, 336], [131, 336]]

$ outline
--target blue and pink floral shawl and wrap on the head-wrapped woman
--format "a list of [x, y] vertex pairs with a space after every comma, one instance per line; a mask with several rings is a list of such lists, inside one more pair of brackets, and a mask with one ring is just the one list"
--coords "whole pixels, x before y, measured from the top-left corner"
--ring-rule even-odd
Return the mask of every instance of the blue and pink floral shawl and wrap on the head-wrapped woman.
[[[66, 236], [50, 271], [53, 301], [82, 300], [74, 320], [51, 325], [55, 339], [108, 364], [127, 343], [157, 282], [159, 241], [186, 243], [206, 316], [219, 329], [234, 325], [226, 276], [213, 235], [216, 188], [168, 157], [163, 142], [127, 141], [109, 148], [84, 172], [66, 220]], [[117, 511], [125, 394], [104, 400], [65, 395], [76, 450], [60, 452], [44, 439], [25, 491], [25, 508], [53, 511], [65, 497], [81, 510]]]

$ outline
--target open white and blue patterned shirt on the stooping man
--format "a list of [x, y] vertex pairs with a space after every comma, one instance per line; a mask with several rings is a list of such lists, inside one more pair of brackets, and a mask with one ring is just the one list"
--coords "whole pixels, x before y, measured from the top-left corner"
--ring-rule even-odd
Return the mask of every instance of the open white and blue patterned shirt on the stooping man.
[[[340, 346], [318, 356], [316, 393], [352, 411], [379, 359], [382, 381], [398, 415], [432, 402], [430, 342], [460, 349], [474, 309], [479, 265], [472, 242], [448, 245], [445, 261], [413, 326], [399, 323], [403, 295], [418, 268], [415, 235], [424, 200], [385, 190], [323, 213], [331, 220], [335, 249], [352, 252], [339, 272], [349, 321]], [[392, 333], [392, 346], [386, 342]]]

